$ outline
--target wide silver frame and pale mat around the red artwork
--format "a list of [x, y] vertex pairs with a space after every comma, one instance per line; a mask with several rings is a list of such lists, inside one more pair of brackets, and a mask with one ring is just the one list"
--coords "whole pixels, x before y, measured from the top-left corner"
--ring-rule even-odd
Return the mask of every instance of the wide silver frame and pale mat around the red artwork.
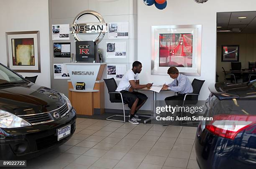
[[[180, 73], [187, 76], [201, 75], [201, 42], [202, 25], [159, 25], [151, 26], [151, 75], [167, 75], [172, 65], [161, 66], [159, 61], [160, 34], [190, 34], [192, 35], [192, 49], [189, 66], [177, 67]], [[170, 57], [169, 54], [167, 57]], [[162, 58], [161, 58], [162, 59]], [[171, 59], [169, 59], [171, 60]], [[166, 62], [168, 62], [166, 60]], [[187, 64], [188, 65], [188, 64]]]

